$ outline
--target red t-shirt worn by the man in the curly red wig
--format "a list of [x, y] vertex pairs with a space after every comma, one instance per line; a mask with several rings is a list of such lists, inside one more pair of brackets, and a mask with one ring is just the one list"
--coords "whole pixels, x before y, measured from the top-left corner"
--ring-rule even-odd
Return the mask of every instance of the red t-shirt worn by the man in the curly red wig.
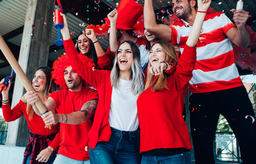
[[[49, 95], [57, 103], [56, 111], [58, 113], [72, 113], [80, 111], [85, 102], [98, 99], [97, 91], [84, 87], [79, 92], [69, 90], [60, 90]], [[92, 121], [88, 120], [82, 124], [64, 124], [60, 123], [59, 137], [60, 148], [58, 154], [69, 157], [70, 159], [86, 161], [89, 160], [88, 132]], [[55, 139], [54, 139], [55, 140]]]

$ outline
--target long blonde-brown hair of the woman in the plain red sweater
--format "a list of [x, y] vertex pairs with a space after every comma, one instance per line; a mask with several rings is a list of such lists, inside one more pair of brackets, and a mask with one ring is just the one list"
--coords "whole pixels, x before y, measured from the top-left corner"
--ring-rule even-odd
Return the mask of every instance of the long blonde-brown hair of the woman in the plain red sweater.
[[[159, 42], [156, 42], [155, 44], [160, 44], [163, 51], [165, 52], [165, 54], [166, 54], [165, 62], [172, 63], [172, 64], [174, 64], [174, 66], [177, 66], [178, 57], [177, 57], [176, 51], [174, 49], [174, 46], [172, 46], [172, 44], [170, 44], [170, 42], [164, 42], [163, 40], [159, 40]], [[154, 46], [154, 44], [152, 45], [152, 47], [153, 46]], [[152, 49], [152, 47], [151, 47], [151, 49]], [[154, 79], [154, 76], [152, 74], [150, 74], [151, 66], [152, 65], [149, 61], [145, 90], [147, 90], [150, 86], [152, 86], [152, 92], [161, 91], [164, 88], [167, 88], [166, 83], [167, 83], [167, 77], [169, 76], [169, 74], [166, 74], [165, 72], [163, 72], [163, 74], [159, 74], [159, 77], [157, 77], [157, 79], [154, 82], [152, 82]]]

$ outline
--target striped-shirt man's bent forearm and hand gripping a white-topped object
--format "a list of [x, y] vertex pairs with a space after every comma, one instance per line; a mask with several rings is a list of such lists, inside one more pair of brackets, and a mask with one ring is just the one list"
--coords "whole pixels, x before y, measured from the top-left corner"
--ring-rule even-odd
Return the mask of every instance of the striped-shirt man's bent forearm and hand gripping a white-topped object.
[[235, 45], [240, 47], [247, 47], [250, 43], [250, 33], [246, 29], [246, 21], [249, 17], [248, 12], [240, 9], [232, 9], [234, 13], [233, 20], [237, 27], [232, 27], [229, 31], [226, 32], [226, 36], [233, 42]]

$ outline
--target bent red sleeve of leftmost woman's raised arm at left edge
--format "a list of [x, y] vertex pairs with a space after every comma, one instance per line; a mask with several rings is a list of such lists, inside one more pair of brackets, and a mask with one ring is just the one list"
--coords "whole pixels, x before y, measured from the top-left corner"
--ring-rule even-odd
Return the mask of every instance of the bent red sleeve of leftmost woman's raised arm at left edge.
[[27, 105], [25, 105], [22, 100], [20, 100], [13, 109], [11, 109], [10, 103], [8, 103], [7, 105], [2, 104], [4, 120], [6, 122], [11, 122], [20, 118], [23, 115], [23, 108], [25, 107], [27, 107]]

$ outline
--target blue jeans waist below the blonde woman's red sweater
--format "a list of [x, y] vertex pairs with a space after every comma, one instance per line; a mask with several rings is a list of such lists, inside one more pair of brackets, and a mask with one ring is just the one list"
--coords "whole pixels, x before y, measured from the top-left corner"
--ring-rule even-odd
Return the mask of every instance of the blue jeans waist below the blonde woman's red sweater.
[[143, 155], [141, 164], [191, 164], [191, 156], [189, 150], [181, 154], [171, 156], [148, 156]]

